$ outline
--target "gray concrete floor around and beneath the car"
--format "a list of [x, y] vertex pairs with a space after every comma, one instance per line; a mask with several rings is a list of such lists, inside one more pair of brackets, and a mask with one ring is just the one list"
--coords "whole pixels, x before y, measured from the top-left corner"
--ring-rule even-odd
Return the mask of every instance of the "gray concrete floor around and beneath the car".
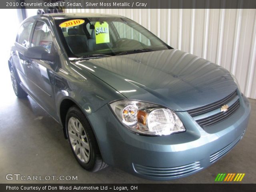
[[31, 98], [16, 98], [7, 68], [3, 68], [0, 75], [0, 183], [17, 183], [6, 180], [6, 174], [38, 175], [42, 178], [46, 175], [70, 175], [78, 178], [77, 181], [34, 183], [214, 183], [220, 172], [246, 173], [242, 183], [256, 183], [256, 100], [250, 100], [252, 113], [244, 138], [224, 158], [192, 176], [157, 182], [113, 167], [96, 173], [83, 170], [73, 157], [61, 126]]

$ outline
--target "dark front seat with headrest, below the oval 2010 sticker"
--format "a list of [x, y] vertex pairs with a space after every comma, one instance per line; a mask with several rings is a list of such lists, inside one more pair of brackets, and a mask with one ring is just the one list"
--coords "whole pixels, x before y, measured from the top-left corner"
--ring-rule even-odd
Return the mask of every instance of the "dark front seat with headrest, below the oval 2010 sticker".
[[79, 35], [78, 29], [68, 29], [68, 36], [66, 36], [65, 39], [73, 54], [76, 55], [88, 51], [87, 37], [85, 35]]

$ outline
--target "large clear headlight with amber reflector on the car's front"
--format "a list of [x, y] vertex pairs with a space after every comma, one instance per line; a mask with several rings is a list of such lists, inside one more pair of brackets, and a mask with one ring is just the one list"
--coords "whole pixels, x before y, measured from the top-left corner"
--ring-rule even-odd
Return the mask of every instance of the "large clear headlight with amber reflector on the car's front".
[[168, 108], [135, 100], [119, 100], [110, 107], [128, 130], [138, 134], [170, 135], [185, 131], [180, 118]]

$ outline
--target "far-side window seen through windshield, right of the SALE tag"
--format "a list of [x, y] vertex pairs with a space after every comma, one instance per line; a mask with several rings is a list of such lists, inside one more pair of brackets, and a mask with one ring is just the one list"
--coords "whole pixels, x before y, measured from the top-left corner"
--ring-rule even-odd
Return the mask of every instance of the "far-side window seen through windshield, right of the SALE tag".
[[150, 40], [146, 36], [133, 29], [132, 27], [128, 26], [127, 24], [114, 21], [113, 25], [116, 28], [116, 31], [118, 32], [120, 38], [137, 40], [145, 45], [151, 45]]

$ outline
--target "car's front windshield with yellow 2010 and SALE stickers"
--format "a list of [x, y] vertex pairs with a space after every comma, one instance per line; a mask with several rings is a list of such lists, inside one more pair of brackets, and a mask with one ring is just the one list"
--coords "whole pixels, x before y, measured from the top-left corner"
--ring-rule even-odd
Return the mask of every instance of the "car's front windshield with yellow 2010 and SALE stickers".
[[65, 18], [56, 20], [69, 58], [97, 58], [171, 47], [127, 18]]

